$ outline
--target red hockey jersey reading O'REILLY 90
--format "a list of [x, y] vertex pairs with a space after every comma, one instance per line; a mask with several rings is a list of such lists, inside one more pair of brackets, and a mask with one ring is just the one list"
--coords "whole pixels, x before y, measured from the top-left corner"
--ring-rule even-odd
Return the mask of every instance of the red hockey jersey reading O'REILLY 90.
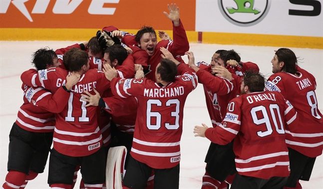
[[[230, 101], [223, 122], [205, 136], [225, 145], [234, 139], [240, 175], [269, 179], [288, 177], [289, 157], [285, 126], [297, 118], [295, 109], [279, 92], [254, 92]], [[295, 122], [291, 127], [295, 127]]]

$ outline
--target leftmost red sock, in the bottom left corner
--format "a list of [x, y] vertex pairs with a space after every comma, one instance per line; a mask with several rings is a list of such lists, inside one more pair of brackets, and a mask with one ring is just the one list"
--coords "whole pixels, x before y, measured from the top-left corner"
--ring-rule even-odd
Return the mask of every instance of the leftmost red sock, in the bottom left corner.
[[19, 189], [26, 180], [27, 175], [18, 171], [9, 171], [3, 183], [3, 189]]

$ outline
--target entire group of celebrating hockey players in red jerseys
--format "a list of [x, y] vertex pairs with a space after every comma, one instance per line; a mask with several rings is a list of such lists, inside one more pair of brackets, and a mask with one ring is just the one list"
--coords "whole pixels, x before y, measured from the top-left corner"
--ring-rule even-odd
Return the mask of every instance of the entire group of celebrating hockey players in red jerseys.
[[[195, 62], [176, 4], [173, 40], [144, 26], [104, 27], [88, 42], [37, 50], [21, 74], [4, 189], [23, 189], [49, 156], [52, 189], [178, 189], [183, 109], [203, 84], [212, 127], [202, 189], [302, 189], [323, 150], [316, 80], [288, 48], [266, 79], [234, 50]], [[187, 64], [181, 56], [187, 55]], [[53, 143], [53, 148], [51, 144]], [[264, 148], [265, 147], [265, 148]]]

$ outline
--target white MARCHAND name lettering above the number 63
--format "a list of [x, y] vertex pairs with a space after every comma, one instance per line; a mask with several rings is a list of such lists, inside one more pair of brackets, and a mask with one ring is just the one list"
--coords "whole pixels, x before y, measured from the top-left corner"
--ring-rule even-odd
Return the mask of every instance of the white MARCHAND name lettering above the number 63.
[[154, 88], [154, 89], [144, 89], [145, 97], [153, 98], [164, 98], [164, 97], [174, 97], [181, 96], [184, 94], [184, 87], [170, 87], [170, 88]]

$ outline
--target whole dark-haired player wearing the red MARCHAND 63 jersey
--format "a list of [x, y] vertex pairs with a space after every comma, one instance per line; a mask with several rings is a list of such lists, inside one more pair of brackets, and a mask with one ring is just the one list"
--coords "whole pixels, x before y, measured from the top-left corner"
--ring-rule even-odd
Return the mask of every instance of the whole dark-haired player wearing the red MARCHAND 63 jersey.
[[[192, 53], [187, 54], [189, 61], [194, 62]], [[178, 77], [176, 65], [181, 73]], [[187, 65], [167, 59], [161, 60], [155, 75], [156, 83], [149, 79], [108, 78], [115, 95], [123, 98], [133, 95], [138, 99], [131, 157], [123, 180], [126, 188], [145, 188], [152, 170], [155, 189], [179, 186], [183, 108], [197, 78]]]

